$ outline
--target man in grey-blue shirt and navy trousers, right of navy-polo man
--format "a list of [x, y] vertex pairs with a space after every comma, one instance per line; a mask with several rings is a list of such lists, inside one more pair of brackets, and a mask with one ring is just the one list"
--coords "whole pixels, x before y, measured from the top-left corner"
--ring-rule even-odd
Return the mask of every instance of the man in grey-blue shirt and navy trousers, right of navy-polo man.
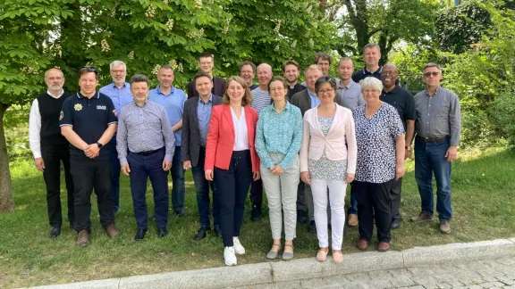
[[116, 149], [123, 174], [131, 178], [131, 194], [138, 230], [135, 241], [145, 237], [148, 212], [147, 178], [154, 190], [157, 236], [166, 236], [168, 222], [168, 170], [175, 150], [170, 120], [163, 105], [148, 101], [148, 78], [131, 78], [134, 101], [122, 107]]

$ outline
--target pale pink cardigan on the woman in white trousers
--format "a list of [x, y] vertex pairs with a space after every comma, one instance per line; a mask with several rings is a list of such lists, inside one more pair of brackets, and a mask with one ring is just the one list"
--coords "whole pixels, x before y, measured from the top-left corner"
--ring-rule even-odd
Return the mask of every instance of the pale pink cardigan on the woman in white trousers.
[[[333, 124], [327, 136], [318, 126], [317, 108], [312, 108], [304, 114], [304, 134], [300, 147], [300, 171], [308, 171], [308, 159], [320, 160], [324, 153], [329, 160], [347, 160], [347, 173], [356, 172], [356, 159], [358, 147], [354, 131], [352, 112], [340, 105], [336, 105]], [[347, 147], [345, 147], [347, 141]]]

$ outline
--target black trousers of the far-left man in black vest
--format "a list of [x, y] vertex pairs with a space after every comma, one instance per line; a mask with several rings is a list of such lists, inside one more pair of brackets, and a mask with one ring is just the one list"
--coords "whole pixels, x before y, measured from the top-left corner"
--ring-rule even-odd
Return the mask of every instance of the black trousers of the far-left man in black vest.
[[48, 221], [52, 227], [63, 225], [61, 209], [61, 161], [64, 167], [64, 181], [66, 182], [68, 221], [73, 226], [75, 213], [73, 211], [73, 179], [70, 173], [69, 145], [41, 145], [41, 157], [45, 161], [43, 178], [46, 184], [46, 208]]

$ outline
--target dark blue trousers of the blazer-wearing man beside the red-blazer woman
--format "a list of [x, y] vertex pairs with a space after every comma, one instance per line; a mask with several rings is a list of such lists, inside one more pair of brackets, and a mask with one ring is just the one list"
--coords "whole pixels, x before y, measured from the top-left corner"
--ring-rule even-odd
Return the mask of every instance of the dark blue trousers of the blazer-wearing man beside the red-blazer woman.
[[220, 203], [218, 202], [215, 182], [209, 182], [205, 177], [205, 159], [206, 152], [203, 149], [200, 149], [198, 164], [195, 167], [191, 167], [191, 175], [193, 176], [193, 182], [197, 189], [198, 218], [200, 220], [200, 226], [207, 228], [211, 227], [211, 221], [209, 220], [209, 185], [211, 185], [211, 191], [213, 191], [213, 223], [215, 227], [220, 226]]

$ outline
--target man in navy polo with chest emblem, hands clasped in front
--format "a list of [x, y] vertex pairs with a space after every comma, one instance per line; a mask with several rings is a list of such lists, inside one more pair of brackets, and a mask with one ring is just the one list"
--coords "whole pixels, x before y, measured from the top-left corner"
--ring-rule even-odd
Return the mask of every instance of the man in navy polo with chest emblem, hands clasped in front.
[[116, 110], [111, 98], [97, 92], [98, 72], [93, 67], [79, 70], [80, 91], [67, 98], [59, 116], [61, 134], [70, 142], [70, 165], [75, 199], [77, 244], [88, 245], [91, 232], [91, 193], [97, 194], [100, 223], [110, 237], [114, 227], [111, 200], [111, 155], [109, 141], [116, 131]]

